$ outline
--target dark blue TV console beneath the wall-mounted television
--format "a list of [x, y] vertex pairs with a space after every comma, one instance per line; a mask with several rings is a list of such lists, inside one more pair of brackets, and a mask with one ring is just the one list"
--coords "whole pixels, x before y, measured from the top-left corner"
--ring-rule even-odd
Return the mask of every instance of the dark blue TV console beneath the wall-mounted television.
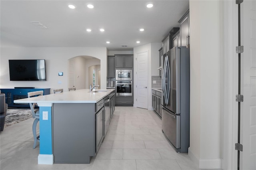
[[14, 100], [28, 98], [28, 92], [44, 91], [44, 95], [50, 94], [49, 89], [35, 89], [35, 88], [14, 88], [14, 89], [1, 89], [1, 93], [5, 93], [5, 102], [8, 107], [29, 107], [28, 103], [13, 103]]

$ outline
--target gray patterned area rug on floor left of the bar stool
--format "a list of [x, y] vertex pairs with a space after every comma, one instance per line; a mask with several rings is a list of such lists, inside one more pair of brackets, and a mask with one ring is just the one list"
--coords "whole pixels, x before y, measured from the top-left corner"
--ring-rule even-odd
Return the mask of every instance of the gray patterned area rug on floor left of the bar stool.
[[14, 125], [32, 117], [30, 109], [8, 109], [5, 117], [4, 127]]

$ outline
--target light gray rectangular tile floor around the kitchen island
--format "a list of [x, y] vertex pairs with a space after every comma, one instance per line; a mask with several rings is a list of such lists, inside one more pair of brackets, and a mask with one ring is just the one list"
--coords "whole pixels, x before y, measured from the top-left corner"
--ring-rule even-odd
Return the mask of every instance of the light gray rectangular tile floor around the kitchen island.
[[197, 170], [187, 153], [176, 153], [161, 130], [161, 119], [146, 109], [116, 107], [108, 133], [90, 164], [38, 165], [32, 149], [33, 119], [0, 133], [0, 170]]

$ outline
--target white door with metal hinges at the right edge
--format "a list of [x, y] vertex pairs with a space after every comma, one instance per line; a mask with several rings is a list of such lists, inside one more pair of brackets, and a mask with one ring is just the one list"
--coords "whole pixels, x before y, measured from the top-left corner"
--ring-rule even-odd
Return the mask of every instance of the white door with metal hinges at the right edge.
[[241, 144], [240, 169], [256, 170], [256, 1], [241, 4]]

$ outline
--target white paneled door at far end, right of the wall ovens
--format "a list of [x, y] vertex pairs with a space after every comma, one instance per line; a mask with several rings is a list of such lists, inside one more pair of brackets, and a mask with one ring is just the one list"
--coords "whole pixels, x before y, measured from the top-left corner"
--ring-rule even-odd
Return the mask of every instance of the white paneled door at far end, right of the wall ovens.
[[148, 52], [136, 53], [136, 107], [148, 109]]

